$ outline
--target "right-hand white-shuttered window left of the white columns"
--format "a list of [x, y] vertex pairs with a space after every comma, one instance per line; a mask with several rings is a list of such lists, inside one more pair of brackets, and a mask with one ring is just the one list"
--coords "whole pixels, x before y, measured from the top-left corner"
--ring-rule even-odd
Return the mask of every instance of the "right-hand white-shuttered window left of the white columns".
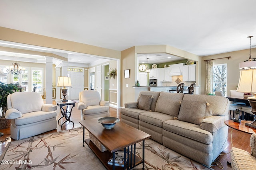
[[43, 92], [43, 68], [34, 68], [31, 67], [31, 86], [32, 89], [36, 88], [36, 92], [41, 93]]

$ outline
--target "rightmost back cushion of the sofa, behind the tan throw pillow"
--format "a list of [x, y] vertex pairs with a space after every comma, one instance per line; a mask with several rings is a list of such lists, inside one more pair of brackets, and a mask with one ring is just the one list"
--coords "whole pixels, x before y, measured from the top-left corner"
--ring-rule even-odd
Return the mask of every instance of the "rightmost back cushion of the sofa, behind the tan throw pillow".
[[198, 95], [198, 94], [185, 94], [183, 100], [196, 101], [196, 102], [208, 102], [210, 105], [206, 107], [205, 117], [212, 115], [228, 115], [229, 100], [223, 96], [210, 96], [210, 95]]

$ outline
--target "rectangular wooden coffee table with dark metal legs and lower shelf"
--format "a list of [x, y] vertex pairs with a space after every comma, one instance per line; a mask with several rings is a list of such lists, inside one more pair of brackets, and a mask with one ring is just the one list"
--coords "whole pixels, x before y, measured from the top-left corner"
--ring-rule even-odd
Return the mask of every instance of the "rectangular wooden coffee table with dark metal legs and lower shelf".
[[[144, 169], [145, 139], [151, 137], [150, 135], [123, 122], [116, 123], [113, 129], [105, 129], [95, 119], [82, 120], [79, 123], [107, 149], [101, 152], [90, 139], [84, 139], [83, 137], [83, 147], [85, 142], [108, 170], [114, 170], [115, 168], [117, 170], [131, 169], [138, 164], [142, 164]], [[143, 145], [142, 159], [135, 155], [136, 143], [140, 141]], [[114, 157], [117, 150], [124, 150], [124, 154], [128, 156], [127, 164], [124, 164], [125, 167], [108, 164], [108, 160], [111, 156]]]

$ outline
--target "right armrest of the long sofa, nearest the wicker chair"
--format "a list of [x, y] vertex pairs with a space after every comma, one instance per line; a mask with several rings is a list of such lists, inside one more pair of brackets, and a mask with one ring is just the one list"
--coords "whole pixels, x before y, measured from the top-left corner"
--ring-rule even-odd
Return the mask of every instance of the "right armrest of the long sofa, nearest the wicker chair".
[[224, 121], [226, 121], [226, 116], [213, 115], [202, 120], [202, 129], [209, 131], [211, 133], [218, 131], [222, 127], [226, 126]]

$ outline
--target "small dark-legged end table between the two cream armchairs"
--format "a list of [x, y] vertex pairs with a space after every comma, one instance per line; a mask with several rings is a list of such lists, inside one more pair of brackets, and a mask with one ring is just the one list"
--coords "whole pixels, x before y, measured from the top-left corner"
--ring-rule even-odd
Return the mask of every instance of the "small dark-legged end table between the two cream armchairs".
[[[76, 106], [76, 102], [73, 102], [72, 100], [68, 100], [68, 102], [62, 102], [60, 100], [60, 101], [56, 101], [56, 104], [58, 106], [60, 106], [60, 112], [62, 114], [62, 117], [65, 117], [65, 119], [66, 119], [66, 121], [64, 121], [61, 124], [61, 128], [62, 128], [62, 125], [64, 123], [66, 123], [67, 121], [72, 122], [73, 126], [74, 126], [74, 122], [70, 120], [70, 117], [71, 117], [73, 107]], [[67, 106], [67, 107], [63, 107], [63, 106]], [[62, 117], [60, 117], [60, 119], [62, 119]], [[58, 123], [59, 123], [60, 119], [58, 120]]]

